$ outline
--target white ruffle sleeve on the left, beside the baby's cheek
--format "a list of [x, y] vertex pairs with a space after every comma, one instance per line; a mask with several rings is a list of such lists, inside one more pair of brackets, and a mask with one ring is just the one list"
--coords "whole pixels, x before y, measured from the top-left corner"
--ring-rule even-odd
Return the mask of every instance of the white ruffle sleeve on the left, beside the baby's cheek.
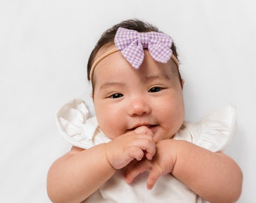
[[110, 141], [98, 129], [96, 117], [89, 118], [85, 102], [74, 99], [56, 114], [56, 123], [63, 138], [75, 147], [87, 149]]

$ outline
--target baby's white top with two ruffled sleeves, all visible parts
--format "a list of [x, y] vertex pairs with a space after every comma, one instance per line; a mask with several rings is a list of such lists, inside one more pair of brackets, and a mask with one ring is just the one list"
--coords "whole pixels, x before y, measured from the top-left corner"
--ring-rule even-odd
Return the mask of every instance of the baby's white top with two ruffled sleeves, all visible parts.
[[[224, 150], [233, 138], [236, 113], [228, 105], [207, 115], [199, 123], [184, 123], [174, 139], [190, 141], [213, 152]], [[111, 141], [99, 129], [96, 117], [89, 117], [83, 100], [74, 99], [57, 114], [57, 124], [62, 136], [72, 145], [87, 149]], [[154, 189], [146, 189], [147, 173], [127, 184], [122, 171], [117, 171], [84, 202], [205, 202], [179, 180], [166, 174], [157, 180]]]

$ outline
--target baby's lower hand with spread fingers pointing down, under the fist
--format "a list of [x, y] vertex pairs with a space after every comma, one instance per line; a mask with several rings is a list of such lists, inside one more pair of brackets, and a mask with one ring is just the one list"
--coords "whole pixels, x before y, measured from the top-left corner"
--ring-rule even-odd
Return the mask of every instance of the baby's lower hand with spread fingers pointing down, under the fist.
[[152, 189], [157, 179], [172, 172], [175, 165], [175, 151], [172, 150], [170, 139], [157, 142], [157, 153], [152, 160], [143, 159], [132, 162], [126, 169], [126, 182], [131, 183], [135, 177], [150, 171], [147, 180], [148, 189]]

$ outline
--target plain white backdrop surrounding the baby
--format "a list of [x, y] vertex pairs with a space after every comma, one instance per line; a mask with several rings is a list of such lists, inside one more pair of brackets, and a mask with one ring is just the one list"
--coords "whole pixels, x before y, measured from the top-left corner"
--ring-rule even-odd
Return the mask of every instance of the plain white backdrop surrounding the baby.
[[236, 105], [226, 153], [255, 202], [256, 6], [243, 1], [0, 1], [0, 201], [50, 202], [47, 171], [69, 150], [55, 125], [72, 98], [90, 102], [86, 64], [105, 29], [139, 18], [172, 36], [185, 80], [186, 119]]

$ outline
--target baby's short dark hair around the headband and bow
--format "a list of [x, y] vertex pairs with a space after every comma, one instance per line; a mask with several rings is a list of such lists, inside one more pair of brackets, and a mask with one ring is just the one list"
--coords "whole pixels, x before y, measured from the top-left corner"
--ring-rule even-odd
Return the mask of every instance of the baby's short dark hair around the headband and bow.
[[[115, 26], [112, 26], [110, 29], [107, 29], [99, 38], [99, 41], [96, 43], [96, 46], [94, 47], [92, 53], [90, 53], [89, 60], [87, 62], [87, 78], [90, 80], [90, 69], [92, 68], [96, 53], [99, 51], [99, 49], [107, 44], [114, 44], [114, 35], [117, 32], [117, 29], [119, 27], [125, 28], [125, 29], [133, 29], [138, 32], [160, 32], [157, 27], [152, 26], [150, 23], [145, 23], [141, 20], [125, 20], [121, 23], [118, 23]], [[176, 56], [178, 59], [178, 53], [176, 51], [175, 44], [172, 42], [172, 54]], [[181, 75], [178, 71], [179, 79], [181, 80]]]

